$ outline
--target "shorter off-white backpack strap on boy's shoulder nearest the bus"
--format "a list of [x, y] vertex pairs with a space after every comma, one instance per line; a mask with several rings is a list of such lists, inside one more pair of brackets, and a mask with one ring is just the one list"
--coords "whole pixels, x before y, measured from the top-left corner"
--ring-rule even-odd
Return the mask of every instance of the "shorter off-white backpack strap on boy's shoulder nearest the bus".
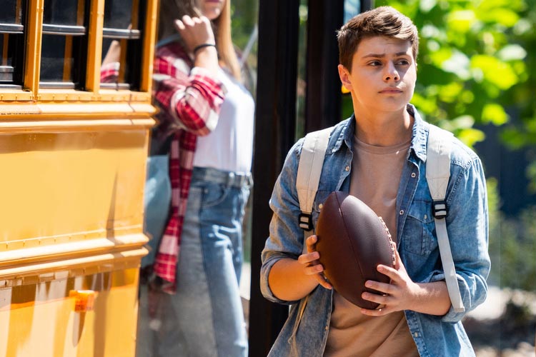
[[296, 178], [296, 189], [298, 192], [300, 213], [299, 227], [304, 230], [305, 239], [312, 235], [312, 206], [314, 196], [317, 195], [320, 174], [324, 165], [329, 134], [333, 128], [313, 131], [305, 136], [302, 154], [299, 157], [298, 174]]

